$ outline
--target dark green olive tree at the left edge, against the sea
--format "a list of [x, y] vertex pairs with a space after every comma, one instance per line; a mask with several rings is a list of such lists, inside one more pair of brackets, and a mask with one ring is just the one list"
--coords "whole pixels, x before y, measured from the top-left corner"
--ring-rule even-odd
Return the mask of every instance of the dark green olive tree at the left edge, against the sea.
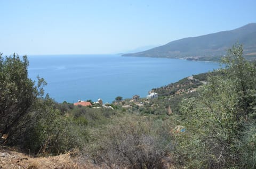
[[26, 133], [42, 112], [44, 79], [37, 84], [28, 77], [28, 58], [15, 53], [0, 54], [0, 133], [5, 142], [15, 142]]

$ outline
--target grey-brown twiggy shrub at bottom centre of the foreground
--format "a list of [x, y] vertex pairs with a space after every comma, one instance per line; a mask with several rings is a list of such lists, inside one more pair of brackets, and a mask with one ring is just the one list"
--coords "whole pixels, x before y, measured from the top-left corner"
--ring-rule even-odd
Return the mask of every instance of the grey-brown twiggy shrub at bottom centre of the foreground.
[[85, 151], [97, 164], [161, 168], [161, 159], [174, 148], [170, 126], [163, 125], [136, 115], [117, 118], [102, 130], [92, 131], [96, 139]]

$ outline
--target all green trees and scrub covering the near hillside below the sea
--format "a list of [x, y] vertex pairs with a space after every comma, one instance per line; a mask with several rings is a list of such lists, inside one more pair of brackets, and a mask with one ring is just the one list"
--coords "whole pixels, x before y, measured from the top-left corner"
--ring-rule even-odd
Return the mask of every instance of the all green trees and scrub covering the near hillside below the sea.
[[113, 109], [43, 97], [46, 83], [28, 78], [26, 56], [1, 55], [0, 64], [4, 146], [34, 156], [69, 151], [98, 168], [255, 168], [256, 67], [242, 45], [219, 70], [153, 89], [155, 99], [117, 97]]

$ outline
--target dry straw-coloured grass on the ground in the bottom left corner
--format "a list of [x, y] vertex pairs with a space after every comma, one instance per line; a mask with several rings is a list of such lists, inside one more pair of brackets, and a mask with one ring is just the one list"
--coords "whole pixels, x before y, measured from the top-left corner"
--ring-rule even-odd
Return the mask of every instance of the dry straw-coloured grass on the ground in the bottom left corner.
[[91, 163], [78, 164], [70, 153], [50, 157], [29, 157], [7, 148], [0, 147], [0, 168], [26, 168], [26, 169], [64, 169], [64, 168], [101, 168]]

